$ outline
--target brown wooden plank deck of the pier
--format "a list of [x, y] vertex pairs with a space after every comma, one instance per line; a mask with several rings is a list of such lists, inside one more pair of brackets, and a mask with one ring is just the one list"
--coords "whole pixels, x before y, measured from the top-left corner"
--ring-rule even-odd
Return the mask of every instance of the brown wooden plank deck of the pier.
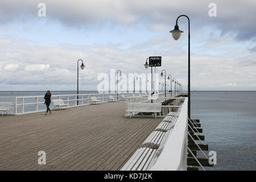
[[0, 170], [118, 170], [162, 121], [124, 114], [117, 101], [0, 117]]

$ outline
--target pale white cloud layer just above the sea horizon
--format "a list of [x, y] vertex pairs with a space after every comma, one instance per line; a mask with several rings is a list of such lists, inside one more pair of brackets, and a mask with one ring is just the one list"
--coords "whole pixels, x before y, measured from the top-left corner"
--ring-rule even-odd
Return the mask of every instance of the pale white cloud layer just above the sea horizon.
[[[92, 90], [97, 88], [98, 74], [109, 74], [111, 68], [121, 69], [122, 73], [125, 74], [150, 73], [150, 69], [143, 67], [146, 58], [150, 55], [162, 55], [162, 67], [157, 68], [157, 72], [166, 69], [167, 75], [171, 74], [177, 78], [183, 84], [183, 89], [186, 89], [187, 50], [172, 49], [171, 46], [169, 49], [156, 51], [125, 50], [113, 46], [113, 44], [101, 44], [100, 46], [98, 44], [97, 46], [44, 44], [34, 46], [24, 40], [8, 40], [0, 39], [0, 46], [2, 47], [0, 65], [8, 65], [10, 61], [15, 61], [19, 63], [19, 68], [15, 72], [6, 69], [2, 69], [0, 72], [0, 82], [5, 84], [6, 88], [9, 85], [10, 88], [20, 89], [20, 84], [22, 84], [24, 89], [76, 89], [77, 60], [82, 59], [86, 67], [84, 70], [79, 70], [80, 89]], [[161, 42], [162, 39], [158, 41]], [[156, 44], [160, 44], [159, 42], [156, 41]], [[14, 60], [11, 52], [17, 53], [16, 60]], [[244, 86], [256, 89], [254, 55], [237, 57], [236, 52], [237, 50], [234, 49], [233, 56], [192, 53], [192, 90], [243, 89]]]

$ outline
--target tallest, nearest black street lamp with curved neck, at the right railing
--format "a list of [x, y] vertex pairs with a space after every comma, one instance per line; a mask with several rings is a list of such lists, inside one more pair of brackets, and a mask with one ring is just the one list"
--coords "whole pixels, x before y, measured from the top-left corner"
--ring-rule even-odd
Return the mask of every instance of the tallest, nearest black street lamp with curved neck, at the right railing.
[[188, 118], [190, 119], [191, 111], [190, 111], [190, 20], [187, 15], [180, 15], [176, 19], [176, 25], [174, 30], [171, 30], [172, 37], [177, 40], [180, 38], [180, 35], [183, 31], [179, 30], [179, 26], [177, 24], [177, 20], [181, 17], [185, 16], [188, 19]]

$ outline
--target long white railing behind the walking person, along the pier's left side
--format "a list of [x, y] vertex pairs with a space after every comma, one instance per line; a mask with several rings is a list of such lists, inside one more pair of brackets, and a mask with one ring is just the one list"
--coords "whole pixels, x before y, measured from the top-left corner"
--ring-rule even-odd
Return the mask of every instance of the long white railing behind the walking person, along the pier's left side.
[[[122, 99], [121, 95], [129, 97], [133, 96], [133, 94], [139, 95], [141, 93], [118, 93], [118, 100]], [[60, 94], [52, 95], [51, 100], [62, 99], [69, 105], [68, 107], [77, 107], [92, 104], [90, 97], [96, 97], [98, 100], [101, 100], [102, 103], [109, 102], [109, 96], [117, 98], [117, 93]], [[7, 101], [13, 103], [10, 114], [19, 115], [46, 110], [46, 106], [44, 105], [44, 96], [0, 96], [0, 102]], [[79, 101], [79, 105], [77, 105], [77, 101]]]

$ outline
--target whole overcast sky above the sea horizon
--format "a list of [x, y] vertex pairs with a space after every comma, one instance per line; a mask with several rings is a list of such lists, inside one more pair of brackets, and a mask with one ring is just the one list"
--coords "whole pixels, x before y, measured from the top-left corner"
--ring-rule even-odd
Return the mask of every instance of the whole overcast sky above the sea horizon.
[[[45, 3], [46, 16], [38, 16]], [[215, 3], [217, 16], [209, 16]], [[256, 90], [256, 1], [0, 1], [0, 90], [96, 90], [100, 73], [150, 73], [148, 56], [187, 85], [191, 19], [191, 89]]]

